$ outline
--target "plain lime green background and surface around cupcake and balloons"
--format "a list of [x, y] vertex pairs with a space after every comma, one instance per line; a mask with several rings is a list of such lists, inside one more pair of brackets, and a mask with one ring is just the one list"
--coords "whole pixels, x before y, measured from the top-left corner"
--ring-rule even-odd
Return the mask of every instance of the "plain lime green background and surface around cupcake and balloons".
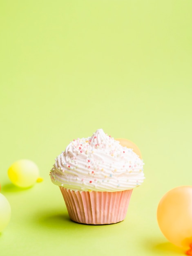
[[[156, 208], [192, 185], [191, 13], [191, 0], [1, 0], [0, 183], [12, 209], [1, 256], [183, 254]], [[49, 171], [98, 128], [137, 144], [146, 179], [123, 222], [80, 225]], [[7, 176], [23, 158], [44, 179], [25, 190]]]

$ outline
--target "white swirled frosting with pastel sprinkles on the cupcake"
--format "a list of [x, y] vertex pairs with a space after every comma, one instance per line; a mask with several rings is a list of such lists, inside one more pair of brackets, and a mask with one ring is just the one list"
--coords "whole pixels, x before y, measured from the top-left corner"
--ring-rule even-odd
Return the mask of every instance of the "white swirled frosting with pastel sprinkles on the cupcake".
[[74, 139], [55, 160], [51, 181], [74, 191], [123, 191], [144, 180], [143, 160], [102, 129]]

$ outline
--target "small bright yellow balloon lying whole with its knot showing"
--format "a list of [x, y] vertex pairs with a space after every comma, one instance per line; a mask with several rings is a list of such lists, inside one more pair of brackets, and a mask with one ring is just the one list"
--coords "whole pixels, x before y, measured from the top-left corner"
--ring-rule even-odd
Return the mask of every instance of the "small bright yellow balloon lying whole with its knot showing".
[[19, 187], [27, 188], [40, 181], [38, 166], [28, 159], [14, 162], [8, 169], [11, 182]]

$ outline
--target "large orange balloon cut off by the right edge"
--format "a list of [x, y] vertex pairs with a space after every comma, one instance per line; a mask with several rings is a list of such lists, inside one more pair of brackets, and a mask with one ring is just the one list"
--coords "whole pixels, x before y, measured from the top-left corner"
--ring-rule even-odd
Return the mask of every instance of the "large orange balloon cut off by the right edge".
[[163, 235], [192, 255], [192, 186], [168, 191], [159, 202], [157, 220]]

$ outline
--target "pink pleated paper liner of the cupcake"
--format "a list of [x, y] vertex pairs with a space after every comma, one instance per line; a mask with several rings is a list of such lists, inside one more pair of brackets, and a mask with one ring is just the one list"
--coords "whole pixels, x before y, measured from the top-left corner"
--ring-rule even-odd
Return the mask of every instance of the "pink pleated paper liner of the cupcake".
[[72, 191], [60, 187], [71, 220], [101, 225], [125, 219], [132, 189], [118, 192]]

